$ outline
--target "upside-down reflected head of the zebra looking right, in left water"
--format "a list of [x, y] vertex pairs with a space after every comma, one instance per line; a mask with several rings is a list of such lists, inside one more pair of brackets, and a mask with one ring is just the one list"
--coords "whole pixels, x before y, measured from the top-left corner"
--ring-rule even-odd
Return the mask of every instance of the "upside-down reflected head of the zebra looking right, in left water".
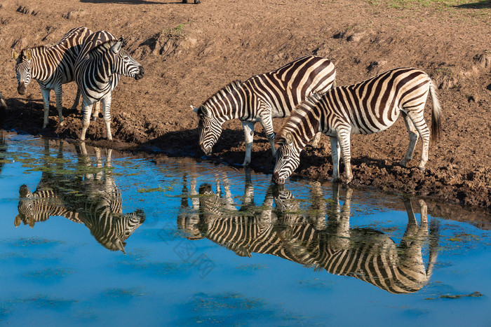
[[[130, 237], [137, 228], [145, 221], [145, 214], [142, 210], [138, 209], [131, 214], [124, 214], [121, 216], [114, 216], [112, 219], [112, 232], [111, 235], [99, 235], [96, 231], [90, 230], [94, 235], [97, 242], [100, 242], [105, 248], [112, 251], [121, 251], [126, 254], [124, 246], [126, 246], [126, 239]], [[102, 223], [102, 221], [101, 221]]]

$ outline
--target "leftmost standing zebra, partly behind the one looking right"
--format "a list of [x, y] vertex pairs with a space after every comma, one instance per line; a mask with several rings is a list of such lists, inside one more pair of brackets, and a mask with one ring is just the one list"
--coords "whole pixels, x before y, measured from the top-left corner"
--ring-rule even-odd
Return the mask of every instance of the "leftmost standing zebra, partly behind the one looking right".
[[[56, 109], [58, 109], [58, 116], [62, 123], [62, 84], [74, 81], [76, 58], [79, 56], [83, 41], [90, 34], [92, 31], [86, 27], [75, 27], [53, 46], [28, 48], [21, 50], [20, 53], [12, 50], [12, 58], [16, 61], [15, 74], [18, 81], [18, 93], [25, 94], [31, 78], [34, 78], [41, 88], [44, 106], [43, 128], [48, 125], [51, 90], [55, 90]], [[79, 99], [80, 90], [77, 89], [71, 109], [76, 109]]]

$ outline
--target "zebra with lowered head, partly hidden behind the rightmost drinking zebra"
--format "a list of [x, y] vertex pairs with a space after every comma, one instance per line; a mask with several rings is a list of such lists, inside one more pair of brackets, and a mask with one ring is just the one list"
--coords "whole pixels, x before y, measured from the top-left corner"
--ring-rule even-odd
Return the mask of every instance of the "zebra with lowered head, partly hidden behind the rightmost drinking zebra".
[[[275, 155], [272, 118], [290, 116], [312, 92], [323, 93], [335, 81], [334, 64], [324, 57], [307, 55], [247, 81], [234, 81], [194, 108], [199, 116], [199, 146], [209, 155], [227, 120], [241, 120], [245, 136], [244, 166], [250, 164], [254, 125], [261, 123]], [[191, 106], [192, 107], [192, 106]], [[320, 137], [320, 134], [318, 135]], [[314, 141], [317, 146], [318, 137]]]

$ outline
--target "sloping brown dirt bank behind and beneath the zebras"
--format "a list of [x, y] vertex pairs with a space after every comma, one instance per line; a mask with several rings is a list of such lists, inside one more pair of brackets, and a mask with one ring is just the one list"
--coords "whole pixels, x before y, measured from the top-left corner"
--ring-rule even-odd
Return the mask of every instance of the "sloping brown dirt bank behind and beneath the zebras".
[[[122, 78], [113, 93], [112, 146], [175, 155], [203, 155], [189, 105], [302, 55], [333, 60], [338, 85], [417, 67], [436, 81], [443, 105], [443, 138], [431, 145], [426, 172], [415, 169], [420, 143], [409, 168], [397, 165], [408, 146], [401, 120], [379, 134], [352, 138], [352, 183], [491, 209], [491, 2], [451, 1], [0, 1], [0, 90], [9, 106], [0, 112], [1, 125], [52, 137], [79, 135], [81, 113], [66, 109], [60, 126], [53, 106], [48, 129], [41, 131], [39, 86], [32, 83], [27, 97], [19, 96], [10, 59], [12, 48], [55, 43], [77, 26], [124, 35], [126, 48], [146, 69], [140, 81]], [[69, 108], [73, 83], [64, 95]], [[276, 130], [281, 123], [276, 120]], [[224, 127], [210, 159], [238, 165], [241, 125]], [[252, 167], [271, 172], [274, 158], [259, 125], [257, 131]], [[102, 121], [91, 123], [88, 138], [104, 137]], [[329, 179], [331, 173], [325, 137], [321, 148], [302, 154], [297, 175]]]

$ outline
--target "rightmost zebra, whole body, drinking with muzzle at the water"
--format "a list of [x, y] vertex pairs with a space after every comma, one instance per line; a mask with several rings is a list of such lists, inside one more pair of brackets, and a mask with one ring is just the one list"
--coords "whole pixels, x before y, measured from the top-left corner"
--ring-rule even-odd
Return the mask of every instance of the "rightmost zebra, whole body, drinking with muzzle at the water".
[[431, 78], [419, 69], [397, 68], [355, 85], [341, 86], [324, 95], [311, 95], [292, 113], [276, 135], [276, 165], [273, 180], [285, 179], [300, 164], [300, 151], [317, 132], [330, 137], [332, 181], [339, 180], [339, 145], [344, 160], [346, 183], [351, 172], [350, 134], [372, 134], [390, 127], [403, 116], [409, 132], [409, 146], [400, 164], [405, 167], [412, 158], [418, 137], [422, 138], [422, 155], [418, 169], [424, 171], [428, 160], [430, 130], [424, 120], [426, 97], [431, 94], [433, 111], [431, 134], [440, 138], [441, 106]]

